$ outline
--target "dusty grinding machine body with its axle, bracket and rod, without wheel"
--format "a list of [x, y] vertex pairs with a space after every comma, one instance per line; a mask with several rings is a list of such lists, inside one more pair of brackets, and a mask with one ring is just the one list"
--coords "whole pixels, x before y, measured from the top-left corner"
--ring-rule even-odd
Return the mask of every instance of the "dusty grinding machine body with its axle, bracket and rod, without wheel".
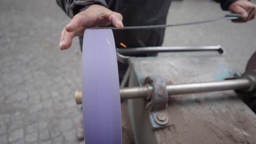
[[[123, 143], [255, 143], [256, 54], [241, 71], [226, 62], [220, 46], [187, 47], [189, 52], [161, 47], [167, 49], [175, 52], [161, 57], [118, 53], [130, 65], [120, 86], [121, 99], [127, 99]], [[81, 100], [77, 92], [77, 104]]]

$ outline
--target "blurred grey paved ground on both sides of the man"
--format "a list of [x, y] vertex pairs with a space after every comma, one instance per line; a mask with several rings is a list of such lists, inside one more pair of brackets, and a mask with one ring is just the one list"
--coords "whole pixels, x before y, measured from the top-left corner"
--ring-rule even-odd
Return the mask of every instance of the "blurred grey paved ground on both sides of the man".
[[[173, 1], [167, 23], [227, 13], [212, 1]], [[79, 143], [74, 129], [82, 117], [74, 100], [75, 90], [82, 89], [78, 39], [71, 49], [58, 49], [69, 20], [54, 0], [0, 1], [1, 144]], [[226, 60], [243, 71], [256, 50], [255, 22], [167, 28], [164, 46], [222, 45]]]

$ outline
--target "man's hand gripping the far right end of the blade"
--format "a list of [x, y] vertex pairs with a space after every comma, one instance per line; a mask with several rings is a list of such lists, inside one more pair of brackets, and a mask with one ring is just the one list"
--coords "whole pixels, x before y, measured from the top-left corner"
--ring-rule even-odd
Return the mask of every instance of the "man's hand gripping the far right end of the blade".
[[247, 0], [238, 0], [230, 5], [229, 11], [242, 15], [241, 19], [234, 20], [234, 22], [246, 22], [254, 19], [256, 14], [256, 5]]

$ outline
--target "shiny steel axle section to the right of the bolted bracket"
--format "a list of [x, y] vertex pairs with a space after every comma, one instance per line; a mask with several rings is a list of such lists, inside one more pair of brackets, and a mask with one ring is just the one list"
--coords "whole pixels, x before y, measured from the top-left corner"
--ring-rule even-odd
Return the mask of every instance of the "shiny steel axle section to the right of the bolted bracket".
[[188, 83], [180, 85], [168, 85], [168, 95], [202, 93], [213, 91], [237, 90], [249, 88], [250, 81], [247, 79], [235, 79], [216, 82]]

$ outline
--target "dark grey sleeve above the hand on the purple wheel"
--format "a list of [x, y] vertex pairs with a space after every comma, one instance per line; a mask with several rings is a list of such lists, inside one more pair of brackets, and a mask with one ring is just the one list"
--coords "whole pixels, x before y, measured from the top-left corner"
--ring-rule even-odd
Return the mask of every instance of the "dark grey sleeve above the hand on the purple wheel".
[[88, 8], [92, 4], [100, 4], [106, 8], [108, 7], [105, 0], [56, 0], [56, 2], [70, 17], [73, 17], [75, 14]]

